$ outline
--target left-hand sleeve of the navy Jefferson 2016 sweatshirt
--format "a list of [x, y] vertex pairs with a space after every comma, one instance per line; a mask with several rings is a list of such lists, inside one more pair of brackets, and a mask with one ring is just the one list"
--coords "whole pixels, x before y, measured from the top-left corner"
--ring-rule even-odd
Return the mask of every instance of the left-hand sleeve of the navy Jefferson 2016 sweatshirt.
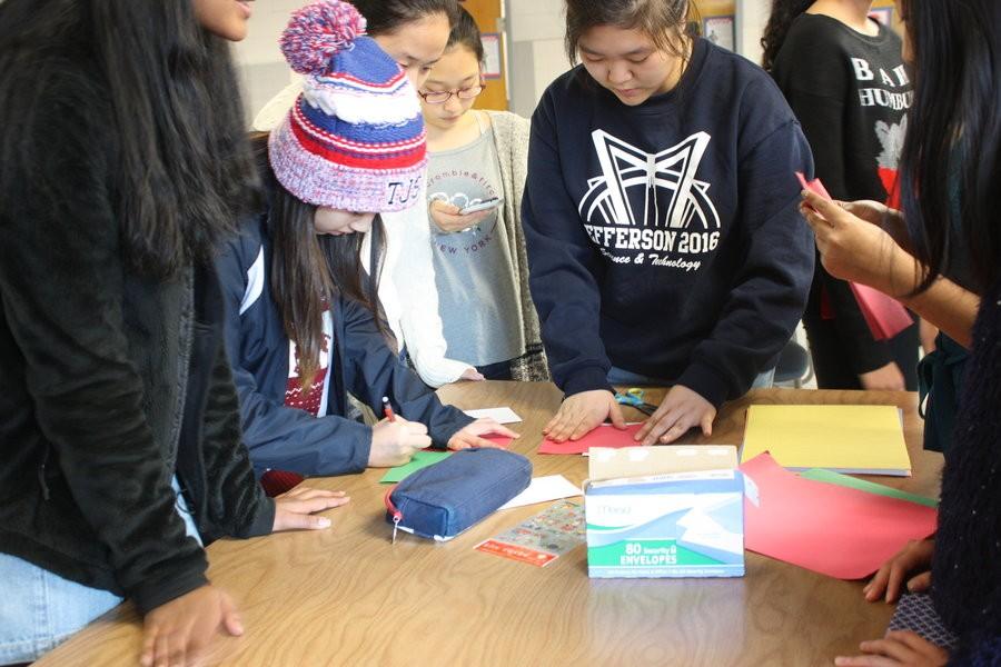
[[611, 391], [612, 364], [598, 331], [601, 258], [563, 186], [556, 128], [556, 110], [545, 94], [532, 117], [522, 199], [532, 298], [556, 386], [566, 396]]

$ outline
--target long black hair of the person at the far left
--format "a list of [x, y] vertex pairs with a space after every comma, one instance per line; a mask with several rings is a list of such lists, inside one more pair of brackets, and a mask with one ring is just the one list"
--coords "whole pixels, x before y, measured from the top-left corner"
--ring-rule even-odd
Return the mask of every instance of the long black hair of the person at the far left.
[[19, 130], [31, 119], [8, 106], [21, 97], [18, 108], [31, 109], [26, 77], [82, 72], [80, 84], [111, 110], [100, 122], [113, 137], [106, 162], [127, 265], [169, 277], [210, 261], [256, 182], [228, 49], [198, 24], [190, 0], [3, 1], [0, 165], [40, 165]]

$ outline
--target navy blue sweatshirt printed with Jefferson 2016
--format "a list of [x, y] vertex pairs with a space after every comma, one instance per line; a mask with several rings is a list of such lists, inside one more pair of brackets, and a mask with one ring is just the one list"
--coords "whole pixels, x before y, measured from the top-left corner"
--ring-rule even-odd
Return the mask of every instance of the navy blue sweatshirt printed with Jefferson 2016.
[[774, 367], [803, 313], [810, 147], [771, 78], [695, 40], [674, 90], [627, 107], [583, 67], [532, 118], [522, 223], [556, 384], [611, 365], [718, 406]]

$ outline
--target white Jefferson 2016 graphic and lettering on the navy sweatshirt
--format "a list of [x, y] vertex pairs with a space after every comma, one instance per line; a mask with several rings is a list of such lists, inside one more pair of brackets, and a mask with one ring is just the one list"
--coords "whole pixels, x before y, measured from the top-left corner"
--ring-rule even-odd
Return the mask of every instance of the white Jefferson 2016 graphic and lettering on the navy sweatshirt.
[[[577, 210], [602, 253], [616, 263], [697, 270], [690, 256], [716, 249], [720, 215], [710, 183], [696, 173], [712, 137], [687, 139], [648, 153], [604, 130], [592, 132], [602, 175], [587, 181]], [[643, 250], [648, 252], [626, 253]]]

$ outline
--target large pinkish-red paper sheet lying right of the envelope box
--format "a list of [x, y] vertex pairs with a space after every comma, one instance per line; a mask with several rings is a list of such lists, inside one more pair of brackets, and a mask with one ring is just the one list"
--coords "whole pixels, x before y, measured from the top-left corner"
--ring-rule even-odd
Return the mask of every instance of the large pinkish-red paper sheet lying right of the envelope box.
[[767, 452], [741, 466], [757, 487], [744, 500], [744, 546], [763, 556], [838, 577], [861, 579], [911, 539], [934, 532], [931, 507], [804, 479]]

